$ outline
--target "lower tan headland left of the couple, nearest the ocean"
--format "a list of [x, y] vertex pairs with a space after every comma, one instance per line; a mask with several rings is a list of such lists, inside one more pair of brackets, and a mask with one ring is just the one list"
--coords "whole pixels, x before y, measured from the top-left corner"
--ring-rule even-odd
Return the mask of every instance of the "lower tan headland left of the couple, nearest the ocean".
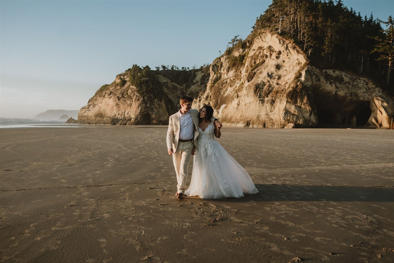
[[[182, 86], [164, 75], [154, 73], [150, 76], [149, 81], [153, 85], [149, 91], [133, 86], [130, 83], [130, 72], [117, 75], [113, 83], [104, 90], [99, 90], [87, 105], [80, 109], [78, 122], [118, 125], [168, 124], [169, 115], [178, 109], [179, 98], [193, 90], [197, 90], [197, 94], [206, 83], [201, 70], [193, 72], [191, 80], [186, 79], [187, 83], [178, 81]], [[143, 81], [148, 79], [145, 78]]]

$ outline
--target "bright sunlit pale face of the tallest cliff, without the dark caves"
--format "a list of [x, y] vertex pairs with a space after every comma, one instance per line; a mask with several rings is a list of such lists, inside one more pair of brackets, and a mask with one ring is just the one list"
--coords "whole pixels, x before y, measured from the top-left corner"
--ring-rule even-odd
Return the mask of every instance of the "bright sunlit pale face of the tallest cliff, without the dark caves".
[[[284, 128], [317, 124], [312, 92], [301, 84], [308, 61], [305, 54], [285, 39], [262, 32], [245, 49], [217, 58], [210, 80], [193, 107], [209, 104], [224, 124]], [[234, 58], [243, 63], [231, 66]]]

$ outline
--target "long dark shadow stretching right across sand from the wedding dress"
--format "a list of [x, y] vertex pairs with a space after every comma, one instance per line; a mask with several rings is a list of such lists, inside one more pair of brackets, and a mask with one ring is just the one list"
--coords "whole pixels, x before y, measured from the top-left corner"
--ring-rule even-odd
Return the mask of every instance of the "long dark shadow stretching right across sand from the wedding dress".
[[256, 184], [258, 193], [244, 198], [216, 199], [217, 202], [336, 201], [394, 202], [394, 187], [304, 186]]

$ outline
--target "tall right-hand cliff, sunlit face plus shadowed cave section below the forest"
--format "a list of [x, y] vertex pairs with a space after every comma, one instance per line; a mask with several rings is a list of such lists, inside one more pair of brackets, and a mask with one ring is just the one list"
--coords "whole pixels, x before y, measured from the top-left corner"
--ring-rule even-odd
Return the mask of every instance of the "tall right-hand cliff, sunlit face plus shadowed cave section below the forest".
[[369, 79], [310, 66], [296, 45], [269, 32], [246, 41], [212, 63], [193, 107], [211, 105], [228, 126], [393, 128], [394, 101]]

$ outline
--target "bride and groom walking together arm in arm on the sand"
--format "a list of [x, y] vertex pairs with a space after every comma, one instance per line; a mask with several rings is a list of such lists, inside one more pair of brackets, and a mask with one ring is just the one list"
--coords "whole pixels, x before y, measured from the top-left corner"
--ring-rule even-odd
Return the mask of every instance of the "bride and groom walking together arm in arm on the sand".
[[[257, 193], [249, 174], [215, 140], [221, 135], [221, 123], [210, 106], [200, 111], [191, 109], [193, 99], [180, 98], [181, 109], [169, 117], [167, 131], [168, 154], [173, 156], [177, 174], [178, 199], [198, 195], [202, 199], [243, 197]], [[193, 172], [188, 190], [186, 180], [191, 155]]]

